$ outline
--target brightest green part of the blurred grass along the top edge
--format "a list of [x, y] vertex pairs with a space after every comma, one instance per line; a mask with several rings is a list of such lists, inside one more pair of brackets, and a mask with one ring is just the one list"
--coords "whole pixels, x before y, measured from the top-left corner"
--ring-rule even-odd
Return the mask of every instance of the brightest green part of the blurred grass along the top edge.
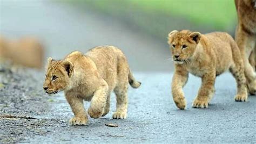
[[158, 13], [170, 17], [186, 18], [194, 24], [214, 25], [220, 30], [233, 25], [237, 18], [233, 0], [103, 0], [87, 2], [106, 12], [139, 9], [149, 15]]

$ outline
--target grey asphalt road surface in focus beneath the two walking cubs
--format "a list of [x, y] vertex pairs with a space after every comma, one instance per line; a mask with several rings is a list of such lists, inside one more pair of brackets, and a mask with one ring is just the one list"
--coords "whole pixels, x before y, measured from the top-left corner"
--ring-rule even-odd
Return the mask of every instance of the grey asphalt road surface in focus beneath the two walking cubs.
[[[88, 126], [69, 126], [71, 109], [64, 96], [53, 96], [50, 111], [39, 118], [51, 118], [62, 124], [45, 127], [43, 136], [29, 136], [24, 142], [86, 142], [86, 143], [255, 143], [256, 97], [248, 102], [235, 102], [235, 81], [231, 74], [217, 78], [216, 93], [208, 109], [194, 109], [192, 101], [200, 79], [190, 76], [184, 88], [186, 110], [178, 110], [171, 98], [171, 77], [168, 73], [136, 73], [142, 81], [139, 89], [129, 89], [129, 110], [125, 120], [113, 120], [115, 97], [110, 113], [100, 119], [90, 119]], [[107, 127], [105, 124], [118, 124]], [[21, 141], [22, 142], [22, 141]]]

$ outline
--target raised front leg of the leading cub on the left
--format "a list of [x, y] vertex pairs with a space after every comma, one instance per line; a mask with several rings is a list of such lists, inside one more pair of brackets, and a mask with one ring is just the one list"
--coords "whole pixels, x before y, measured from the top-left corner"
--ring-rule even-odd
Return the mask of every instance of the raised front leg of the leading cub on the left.
[[[103, 80], [104, 81], [104, 80]], [[93, 94], [88, 114], [91, 118], [99, 118], [104, 112], [107, 96], [109, 95], [109, 87], [104, 81], [104, 85], [99, 87]]]

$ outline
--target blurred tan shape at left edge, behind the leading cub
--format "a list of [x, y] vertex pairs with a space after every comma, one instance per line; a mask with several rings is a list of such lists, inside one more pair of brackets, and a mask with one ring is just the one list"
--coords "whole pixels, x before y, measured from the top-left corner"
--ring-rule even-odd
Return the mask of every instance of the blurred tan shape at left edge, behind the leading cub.
[[42, 68], [44, 49], [35, 38], [11, 41], [0, 37], [0, 57], [23, 66]]

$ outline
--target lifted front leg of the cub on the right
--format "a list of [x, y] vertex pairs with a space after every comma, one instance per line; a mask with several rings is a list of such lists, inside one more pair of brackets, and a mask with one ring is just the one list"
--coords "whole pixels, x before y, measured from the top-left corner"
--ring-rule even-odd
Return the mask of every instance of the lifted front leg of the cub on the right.
[[172, 77], [172, 98], [176, 106], [181, 110], [184, 110], [186, 107], [186, 99], [182, 88], [186, 84], [187, 79], [188, 72], [180, 66], [176, 66]]

